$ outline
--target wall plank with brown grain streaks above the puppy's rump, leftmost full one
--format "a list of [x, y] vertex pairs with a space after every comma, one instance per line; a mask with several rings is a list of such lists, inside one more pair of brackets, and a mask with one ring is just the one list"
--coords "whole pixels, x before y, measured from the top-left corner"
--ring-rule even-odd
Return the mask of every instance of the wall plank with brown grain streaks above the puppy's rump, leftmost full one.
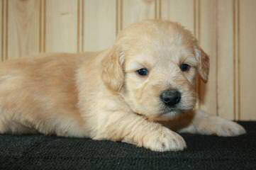
[[39, 1], [9, 1], [8, 56], [39, 52]]

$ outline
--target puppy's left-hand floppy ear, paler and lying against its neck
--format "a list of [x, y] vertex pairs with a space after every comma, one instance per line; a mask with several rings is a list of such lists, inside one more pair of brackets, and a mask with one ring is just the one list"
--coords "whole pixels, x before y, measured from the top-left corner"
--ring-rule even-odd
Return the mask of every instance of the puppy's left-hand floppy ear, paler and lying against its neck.
[[102, 61], [102, 79], [106, 86], [113, 91], [121, 91], [124, 82], [124, 55], [113, 47], [108, 56]]

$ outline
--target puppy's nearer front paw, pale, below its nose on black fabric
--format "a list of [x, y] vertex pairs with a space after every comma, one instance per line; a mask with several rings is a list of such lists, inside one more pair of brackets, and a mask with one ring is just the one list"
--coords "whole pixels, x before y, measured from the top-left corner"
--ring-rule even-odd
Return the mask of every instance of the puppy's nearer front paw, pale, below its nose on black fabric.
[[176, 132], [161, 128], [143, 137], [143, 147], [157, 152], [179, 151], [187, 147], [184, 139]]

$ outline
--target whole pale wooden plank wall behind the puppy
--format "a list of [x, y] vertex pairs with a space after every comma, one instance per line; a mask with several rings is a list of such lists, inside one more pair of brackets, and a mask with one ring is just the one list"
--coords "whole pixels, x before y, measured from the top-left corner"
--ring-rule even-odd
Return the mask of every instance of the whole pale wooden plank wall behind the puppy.
[[255, 0], [0, 0], [1, 60], [102, 50], [130, 23], [177, 21], [211, 56], [209, 83], [199, 82], [199, 108], [256, 120], [255, 8]]

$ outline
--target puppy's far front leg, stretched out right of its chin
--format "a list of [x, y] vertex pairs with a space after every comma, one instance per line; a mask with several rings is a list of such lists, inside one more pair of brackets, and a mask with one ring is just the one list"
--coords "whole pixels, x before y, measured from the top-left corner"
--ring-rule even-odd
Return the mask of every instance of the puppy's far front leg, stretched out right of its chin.
[[226, 120], [204, 111], [195, 111], [194, 120], [179, 132], [199, 133], [201, 135], [237, 136], [245, 133], [245, 129], [231, 120]]

